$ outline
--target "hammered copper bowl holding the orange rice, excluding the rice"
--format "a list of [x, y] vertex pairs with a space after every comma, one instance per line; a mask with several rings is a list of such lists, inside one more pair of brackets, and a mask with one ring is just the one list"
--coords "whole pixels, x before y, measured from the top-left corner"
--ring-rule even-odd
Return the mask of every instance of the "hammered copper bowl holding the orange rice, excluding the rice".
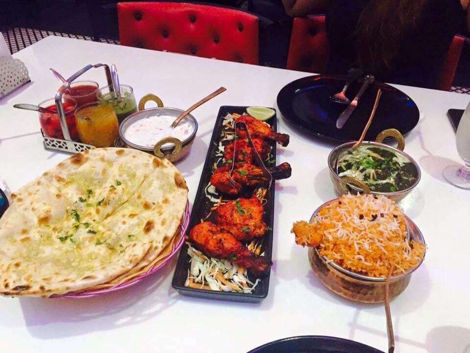
[[[325, 202], [323, 205], [318, 207], [310, 218], [310, 223], [313, 222], [315, 215], [323, 206], [332, 202], [338, 202], [338, 200], [339, 199], [334, 199], [329, 202]], [[423, 234], [416, 224], [406, 215], [404, 215], [404, 218], [408, 232], [407, 236], [409, 236], [411, 240], [425, 244]], [[390, 299], [397, 297], [405, 290], [410, 282], [411, 274], [420, 267], [423, 263], [423, 259], [417, 266], [408, 269], [405, 273], [390, 277]], [[317, 248], [310, 248], [308, 250], [308, 260], [312, 266], [313, 272], [315, 272], [320, 281], [336, 294], [355, 302], [384, 302], [386, 284], [385, 277], [369, 277], [360, 273], [352, 272], [337, 263], [330, 261], [327, 257], [320, 255]]]

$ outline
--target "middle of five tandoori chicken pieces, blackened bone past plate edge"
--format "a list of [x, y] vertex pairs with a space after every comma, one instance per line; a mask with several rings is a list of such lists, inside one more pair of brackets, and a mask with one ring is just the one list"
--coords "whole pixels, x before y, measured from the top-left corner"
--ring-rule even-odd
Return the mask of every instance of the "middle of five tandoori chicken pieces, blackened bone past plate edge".
[[[211, 184], [223, 193], [238, 195], [246, 187], [256, 187], [265, 184], [268, 180], [263, 175], [261, 168], [250, 163], [235, 163], [232, 179], [235, 184], [230, 183], [229, 173], [232, 165], [217, 168], [211, 176]], [[286, 179], [291, 173], [289, 163], [282, 163], [277, 167], [268, 168], [274, 180]]]

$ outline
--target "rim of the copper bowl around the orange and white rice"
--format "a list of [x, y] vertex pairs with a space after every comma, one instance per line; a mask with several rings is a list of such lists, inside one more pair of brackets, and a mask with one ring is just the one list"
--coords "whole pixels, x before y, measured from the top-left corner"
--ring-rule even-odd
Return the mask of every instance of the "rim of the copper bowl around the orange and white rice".
[[[337, 202], [339, 201], [339, 198], [337, 199], [333, 199], [333, 200], [330, 200], [330, 201], [327, 201], [325, 203], [323, 203], [321, 206], [319, 206], [312, 214], [312, 216], [310, 217], [310, 223], [312, 222], [313, 218], [316, 216], [316, 214], [318, 213], [318, 211], [323, 207], [323, 206], [326, 206], [332, 202]], [[416, 226], [416, 224], [408, 217], [406, 216], [405, 214], [403, 214], [404, 218], [405, 218], [405, 224], [406, 224], [406, 228], [407, 228], [407, 231], [410, 232], [410, 237], [413, 239], [413, 240], [416, 240], [416, 241], [419, 241], [421, 242], [423, 245], [424, 245], [424, 254], [423, 254], [423, 258], [420, 260], [420, 262], [418, 263], [418, 265], [416, 265], [415, 267], [412, 267], [410, 269], [408, 269], [404, 274], [400, 274], [400, 275], [396, 275], [396, 276], [391, 276], [390, 277], [390, 280], [391, 281], [394, 281], [394, 280], [400, 280], [402, 279], [403, 277], [406, 277], [406, 276], [409, 276], [411, 275], [413, 272], [415, 272], [418, 267], [421, 266], [421, 264], [423, 263], [424, 261], [424, 258], [426, 256], [426, 242], [424, 241], [424, 238], [423, 238], [423, 233], [421, 233], [421, 230], [418, 228], [418, 226]], [[414, 235], [414, 236], [413, 236]], [[368, 282], [385, 282], [387, 280], [387, 278], [385, 277], [371, 277], [371, 276], [366, 276], [366, 275], [361, 275], [357, 272], [353, 272], [353, 271], [350, 271], [340, 265], [338, 265], [336, 262], [334, 261], [331, 261], [329, 260], [325, 255], [320, 255], [320, 253], [318, 252], [318, 249], [315, 247], [313, 248], [313, 250], [315, 251], [315, 254], [320, 257], [320, 259], [325, 263], [325, 265], [327, 267], [332, 267], [334, 270], [336, 271], [339, 271], [349, 277], [352, 277], [354, 279], [357, 279], [357, 280], [363, 280], [363, 281], [368, 281]], [[330, 269], [331, 270], [331, 269]]]

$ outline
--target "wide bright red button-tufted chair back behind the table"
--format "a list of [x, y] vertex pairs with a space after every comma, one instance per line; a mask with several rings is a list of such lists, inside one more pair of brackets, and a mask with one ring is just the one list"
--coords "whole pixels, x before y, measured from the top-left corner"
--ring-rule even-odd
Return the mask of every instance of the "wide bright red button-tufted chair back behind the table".
[[258, 18], [185, 2], [119, 2], [122, 45], [258, 64]]

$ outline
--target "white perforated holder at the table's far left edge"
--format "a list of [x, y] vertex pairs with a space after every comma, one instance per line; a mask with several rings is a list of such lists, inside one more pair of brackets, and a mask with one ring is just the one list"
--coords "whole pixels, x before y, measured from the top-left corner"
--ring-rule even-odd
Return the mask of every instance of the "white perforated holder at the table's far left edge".
[[0, 99], [28, 82], [28, 69], [20, 59], [0, 57]]

